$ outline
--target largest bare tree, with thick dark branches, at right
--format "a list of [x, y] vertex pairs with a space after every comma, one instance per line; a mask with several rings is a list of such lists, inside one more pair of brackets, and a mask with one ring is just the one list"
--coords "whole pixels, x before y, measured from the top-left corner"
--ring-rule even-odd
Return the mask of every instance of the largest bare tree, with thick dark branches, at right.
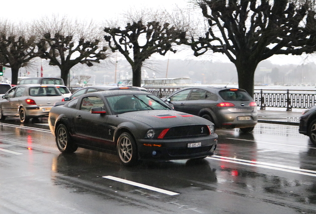
[[253, 95], [258, 63], [274, 54], [316, 51], [313, 0], [194, 0], [209, 29], [189, 45], [199, 56], [207, 50], [225, 54], [238, 74], [239, 88]]

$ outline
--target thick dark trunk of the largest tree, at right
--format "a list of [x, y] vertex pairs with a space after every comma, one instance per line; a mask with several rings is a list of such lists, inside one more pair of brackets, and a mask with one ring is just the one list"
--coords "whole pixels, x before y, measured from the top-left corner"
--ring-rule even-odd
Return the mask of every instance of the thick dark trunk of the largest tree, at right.
[[238, 88], [244, 89], [253, 97], [254, 92], [254, 72], [258, 63], [252, 60], [244, 60], [243, 63], [236, 63], [238, 74]]

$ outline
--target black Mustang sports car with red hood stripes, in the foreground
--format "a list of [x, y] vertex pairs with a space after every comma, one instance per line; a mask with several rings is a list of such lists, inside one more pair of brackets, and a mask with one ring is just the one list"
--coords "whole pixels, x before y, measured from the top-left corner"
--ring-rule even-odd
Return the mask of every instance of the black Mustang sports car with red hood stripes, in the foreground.
[[218, 137], [209, 120], [175, 111], [142, 91], [95, 92], [57, 103], [49, 126], [62, 153], [78, 147], [109, 152], [124, 165], [203, 159], [214, 154]]

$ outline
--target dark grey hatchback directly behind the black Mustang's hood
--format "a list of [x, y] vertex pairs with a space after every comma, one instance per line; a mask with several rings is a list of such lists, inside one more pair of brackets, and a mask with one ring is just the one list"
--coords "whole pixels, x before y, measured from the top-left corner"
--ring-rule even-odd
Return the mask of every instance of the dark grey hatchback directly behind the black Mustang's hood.
[[177, 111], [201, 116], [216, 128], [240, 128], [251, 132], [258, 120], [257, 105], [242, 89], [226, 87], [187, 87], [162, 99]]

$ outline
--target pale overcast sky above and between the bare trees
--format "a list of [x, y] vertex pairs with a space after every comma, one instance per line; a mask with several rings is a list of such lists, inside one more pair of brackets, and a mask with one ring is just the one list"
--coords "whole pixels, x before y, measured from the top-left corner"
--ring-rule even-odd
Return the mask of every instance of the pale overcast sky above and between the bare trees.
[[[137, 7], [180, 8], [191, 7], [189, 0], [2, 0], [0, 17], [10, 21], [31, 21], [51, 14], [64, 15], [79, 19], [93, 19], [104, 21], [106, 19], [120, 18], [121, 12]], [[182, 52], [185, 54], [184, 52]], [[191, 55], [191, 53], [189, 53]], [[170, 58], [177, 58], [180, 54], [170, 54]], [[185, 54], [187, 55], [187, 54]], [[209, 56], [213, 60], [228, 61], [221, 54]], [[194, 58], [194, 57], [192, 57]], [[301, 64], [316, 62], [315, 56], [286, 56], [275, 55], [268, 60], [275, 64]]]

